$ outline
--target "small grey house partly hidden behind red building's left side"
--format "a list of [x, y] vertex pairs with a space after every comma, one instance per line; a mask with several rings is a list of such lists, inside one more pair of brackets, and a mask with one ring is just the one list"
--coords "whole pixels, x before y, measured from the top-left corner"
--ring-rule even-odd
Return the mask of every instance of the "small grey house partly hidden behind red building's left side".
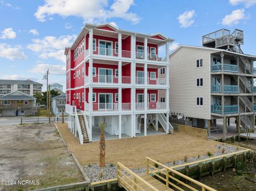
[[[62, 110], [65, 112], [66, 93], [52, 98], [52, 112], [55, 115], [61, 115]], [[66, 113], [65, 113], [66, 114]]]

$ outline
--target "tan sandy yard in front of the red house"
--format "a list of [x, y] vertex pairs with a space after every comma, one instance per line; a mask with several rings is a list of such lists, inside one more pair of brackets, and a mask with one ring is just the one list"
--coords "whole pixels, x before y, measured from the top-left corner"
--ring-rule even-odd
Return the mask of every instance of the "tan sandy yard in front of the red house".
[[[57, 124], [68, 149], [82, 165], [99, 162], [99, 142], [80, 145], [78, 139], [67, 128], [67, 123]], [[122, 162], [129, 168], [146, 165], [146, 156], [161, 163], [217, 152], [217, 142], [175, 132], [174, 135], [106, 140], [106, 163]]]

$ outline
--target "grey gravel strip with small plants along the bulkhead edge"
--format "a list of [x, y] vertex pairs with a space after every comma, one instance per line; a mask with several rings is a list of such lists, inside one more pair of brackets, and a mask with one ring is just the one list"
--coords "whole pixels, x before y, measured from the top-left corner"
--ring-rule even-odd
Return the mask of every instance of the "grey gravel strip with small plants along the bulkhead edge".
[[[189, 162], [194, 162], [198, 160], [204, 160], [208, 159], [210, 157], [214, 156], [220, 156], [223, 154], [229, 154], [229, 153], [234, 153], [236, 151], [241, 151], [243, 150], [242, 148], [239, 148], [237, 150], [237, 147], [231, 146], [231, 145], [217, 145], [215, 146], [217, 148], [218, 152], [212, 153], [211, 156], [205, 154], [201, 156], [195, 156], [195, 157], [190, 157], [188, 158], [187, 162], [185, 162], [183, 159], [177, 160], [177, 161], [172, 161], [172, 162], [167, 162], [165, 165], [167, 167], [172, 167], [174, 165], [179, 165], [179, 164], [185, 164]], [[222, 153], [222, 149], [224, 153]], [[83, 166], [83, 169], [87, 176], [90, 178], [91, 182], [96, 182], [96, 181], [101, 181], [101, 180], [108, 180], [112, 178], [116, 178], [117, 176], [117, 167], [114, 164], [108, 163], [106, 164], [106, 167], [100, 168], [99, 164], [89, 164], [86, 166]], [[145, 173], [146, 172], [146, 167], [141, 167], [141, 168], [136, 168], [136, 169], [131, 169], [133, 172], [139, 174], [139, 173]]]

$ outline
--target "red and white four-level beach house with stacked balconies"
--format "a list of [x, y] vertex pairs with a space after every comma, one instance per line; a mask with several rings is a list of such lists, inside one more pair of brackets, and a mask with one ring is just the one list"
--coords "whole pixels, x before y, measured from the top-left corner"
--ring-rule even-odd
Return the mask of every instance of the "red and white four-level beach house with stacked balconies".
[[99, 139], [101, 121], [106, 138], [162, 133], [158, 122], [169, 132], [169, 74], [159, 78], [158, 70], [169, 71], [171, 41], [161, 34], [86, 24], [65, 49], [66, 112], [75, 136], [81, 138], [84, 127], [79, 115], [84, 116], [90, 142]]

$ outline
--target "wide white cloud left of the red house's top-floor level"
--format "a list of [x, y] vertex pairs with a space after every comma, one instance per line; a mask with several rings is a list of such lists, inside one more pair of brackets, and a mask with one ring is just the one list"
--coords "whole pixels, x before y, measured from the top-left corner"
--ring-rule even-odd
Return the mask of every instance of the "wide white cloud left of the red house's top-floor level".
[[32, 39], [32, 44], [27, 46], [28, 49], [34, 52], [52, 52], [60, 49], [65, 49], [70, 46], [76, 39], [76, 35], [60, 36], [46, 36], [43, 39]]

